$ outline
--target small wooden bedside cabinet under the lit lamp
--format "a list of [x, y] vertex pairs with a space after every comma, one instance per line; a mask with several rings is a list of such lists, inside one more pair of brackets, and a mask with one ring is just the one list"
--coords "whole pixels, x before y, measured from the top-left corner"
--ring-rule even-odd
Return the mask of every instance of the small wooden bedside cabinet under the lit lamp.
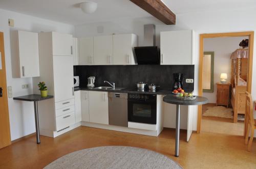
[[225, 105], [228, 107], [230, 98], [230, 83], [216, 83], [217, 101], [216, 105]]

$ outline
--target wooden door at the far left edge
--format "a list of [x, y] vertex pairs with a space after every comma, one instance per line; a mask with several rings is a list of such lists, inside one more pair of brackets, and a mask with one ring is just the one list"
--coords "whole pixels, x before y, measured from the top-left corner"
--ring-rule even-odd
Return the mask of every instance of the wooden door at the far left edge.
[[8, 111], [4, 33], [0, 32], [0, 149], [11, 144]]

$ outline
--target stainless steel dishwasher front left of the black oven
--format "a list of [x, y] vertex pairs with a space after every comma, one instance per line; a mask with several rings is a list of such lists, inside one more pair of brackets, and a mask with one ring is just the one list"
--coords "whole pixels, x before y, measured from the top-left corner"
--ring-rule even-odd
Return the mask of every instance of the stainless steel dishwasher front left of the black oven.
[[127, 93], [109, 92], [109, 124], [128, 127]]

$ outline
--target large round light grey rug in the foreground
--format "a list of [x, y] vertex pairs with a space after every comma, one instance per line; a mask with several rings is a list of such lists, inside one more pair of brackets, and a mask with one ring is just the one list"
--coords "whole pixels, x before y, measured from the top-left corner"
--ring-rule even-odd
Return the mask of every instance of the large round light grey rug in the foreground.
[[106, 146], [83, 149], [58, 158], [45, 168], [182, 168], [151, 150]]

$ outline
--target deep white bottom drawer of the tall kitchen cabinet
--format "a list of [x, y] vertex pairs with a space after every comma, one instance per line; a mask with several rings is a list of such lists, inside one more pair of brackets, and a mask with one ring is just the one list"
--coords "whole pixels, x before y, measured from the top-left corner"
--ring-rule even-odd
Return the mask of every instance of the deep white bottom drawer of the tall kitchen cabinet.
[[69, 127], [70, 125], [75, 124], [75, 122], [75, 112], [59, 116], [56, 118], [56, 130], [59, 131], [63, 128]]

